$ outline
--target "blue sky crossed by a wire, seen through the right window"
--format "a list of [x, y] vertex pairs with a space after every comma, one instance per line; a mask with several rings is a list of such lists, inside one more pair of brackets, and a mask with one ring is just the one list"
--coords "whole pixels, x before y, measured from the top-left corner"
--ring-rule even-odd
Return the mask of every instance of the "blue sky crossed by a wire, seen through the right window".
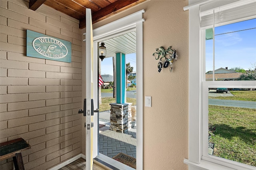
[[[255, 28], [256, 19], [215, 28], [215, 69], [241, 67], [248, 70], [253, 67], [252, 64], [256, 62]], [[213, 70], [212, 42], [206, 40], [206, 71]]]

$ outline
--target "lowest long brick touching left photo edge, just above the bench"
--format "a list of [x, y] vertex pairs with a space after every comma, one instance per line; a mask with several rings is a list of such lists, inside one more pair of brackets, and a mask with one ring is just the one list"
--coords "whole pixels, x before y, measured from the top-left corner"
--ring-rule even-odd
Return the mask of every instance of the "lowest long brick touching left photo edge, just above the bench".
[[28, 132], [28, 125], [0, 130], [1, 138]]

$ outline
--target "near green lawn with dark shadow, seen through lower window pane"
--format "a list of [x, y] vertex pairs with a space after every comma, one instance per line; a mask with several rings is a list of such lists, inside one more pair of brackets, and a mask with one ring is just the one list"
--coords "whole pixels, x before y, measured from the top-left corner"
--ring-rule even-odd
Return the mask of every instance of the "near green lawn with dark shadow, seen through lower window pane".
[[256, 166], [256, 109], [209, 105], [209, 124], [216, 127], [215, 156]]

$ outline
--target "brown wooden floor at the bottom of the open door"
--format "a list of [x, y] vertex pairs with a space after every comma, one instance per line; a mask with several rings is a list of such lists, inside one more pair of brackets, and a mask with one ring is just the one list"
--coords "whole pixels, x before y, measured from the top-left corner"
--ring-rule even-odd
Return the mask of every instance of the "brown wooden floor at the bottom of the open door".
[[[86, 170], [86, 161], [84, 160], [84, 158], [79, 158], [74, 162], [71, 162], [70, 164], [64, 166], [63, 168], [60, 168], [59, 170]], [[96, 164], [93, 164], [92, 170], [104, 170], [104, 169]]]

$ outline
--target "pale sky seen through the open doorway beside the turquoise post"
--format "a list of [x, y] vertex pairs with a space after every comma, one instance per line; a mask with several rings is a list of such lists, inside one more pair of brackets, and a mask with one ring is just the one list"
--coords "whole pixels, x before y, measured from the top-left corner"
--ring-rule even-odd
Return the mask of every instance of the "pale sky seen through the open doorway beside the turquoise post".
[[[135, 53], [126, 54], [126, 63], [130, 63], [130, 65], [133, 67], [133, 71], [136, 71], [136, 54]], [[103, 61], [101, 61], [101, 74], [113, 75], [112, 57], [104, 58]]]

